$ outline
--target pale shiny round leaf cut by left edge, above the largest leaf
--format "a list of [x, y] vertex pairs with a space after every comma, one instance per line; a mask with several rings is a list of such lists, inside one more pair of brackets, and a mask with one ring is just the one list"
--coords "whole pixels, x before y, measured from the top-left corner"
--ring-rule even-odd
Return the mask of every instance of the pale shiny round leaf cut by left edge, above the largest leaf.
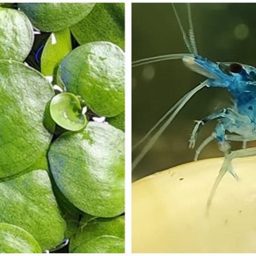
[[32, 24], [23, 12], [0, 8], [0, 58], [24, 61], [34, 41]]

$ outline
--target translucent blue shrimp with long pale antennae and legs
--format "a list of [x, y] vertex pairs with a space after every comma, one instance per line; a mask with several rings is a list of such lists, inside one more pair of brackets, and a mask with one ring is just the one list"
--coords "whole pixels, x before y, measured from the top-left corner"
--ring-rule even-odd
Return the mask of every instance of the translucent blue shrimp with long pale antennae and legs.
[[[134, 169], [137, 166], [137, 164], [152, 147], [152, 145], [154, 145], [160, 135], [163, 134], [177, 113], [181, 110], [181, 108], [183, 108], [186, 102], [188, 102], [188, 100], [195, 95], [195, 93], [197, 93], [203, 87], [225, 88], [232, 98], [232, 104], [228, 108], [223, 108], [219, 111], [211, 113], [200, 121], [197, 121], [189, 140], [189, 147], [194, 148], [201, 128], [207, 122], [217, 119], [217, 125], [215, 126], [214, 132], [212, 132], [212, 134], [201, 144], [201, 146], [196, 151], [195, 156], [195, 160], [197, 160], [198, 154], [212, 140], [217, 141], [219, 149], [224, 154], [224, 163], [221, 166], [220, 172], [212, 186], [212, 190], [207, 201], [208, 210], [212, 203], [212, 199], [218, 184], [221, 182], [221, 179], [224, 177], [224, 175], [229, 172], [231, 175], [233, 175], [233, 177], [238, 179], [238, 176], [232, 167], [232, 160], [236, 157], [256, 155], [256, 148], [245, 149], [246, 142], [256, 140], [256, 68], [236, 62], [215, 63], [198, 55], [193, 33], [190, 7], [188, 8], [190, 40], [184, 32], [175, 7], [174, 11], [180, 26], [180, 30], [183, 34], [183, 39], [190, 53], [161, 55], [134, 61], [133, 64], [134, 66], [140, 66], [158, 61], [181, 59], [186, 67], [198, 74], [205, 76], [207, 80], [183, 96], [156, 123], [156, 125], [154, 125], [154, 127], [143, 137], [143, 139], [134, 146], [134, 148], [137, 148], [141, 143], [144, 143], [146, 140], [148, 140], [137, 157], [135, 157], [132, 163], [132, 167]], [[230, 147], [230, 141], [243, 142], [244, 149], [232, 151]]]

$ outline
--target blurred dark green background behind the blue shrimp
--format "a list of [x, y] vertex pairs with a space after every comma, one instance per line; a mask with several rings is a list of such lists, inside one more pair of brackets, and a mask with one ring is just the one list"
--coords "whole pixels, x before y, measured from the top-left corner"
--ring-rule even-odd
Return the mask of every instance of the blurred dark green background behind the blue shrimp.
[[[183, 26], [188, 31], [186, 4], [176, 3]], [[256, 66], [256, 3], [192, 3], [192, 20], [199, 55], [211, 61], [234, 61]], [[169, 53], [189, 53], [169, 3], [132, 4], [132, 60]], [[132, 69], [132, 143], [143, 135], [185, 93], [204, 81], [188, 70], [181, 60], [163, 61]], [[181, 110], [157, 143], [133, 172], [137, 180], [194, 159], [189, 137], [195, 125], [210, 113], [230, 105], [226, 90], [204, 88]], [[195, 148], [214, 130], [207, 123]], [[255, 144], [254, 144], [255, 145]], [[248, 143], [253, 146], [253, 143]], [[233, 143], [232, 148], [241, 147]], [[141, 147], [133, 152], [135, 157]], [[222, 156], [214, 141], [199, 159]]]

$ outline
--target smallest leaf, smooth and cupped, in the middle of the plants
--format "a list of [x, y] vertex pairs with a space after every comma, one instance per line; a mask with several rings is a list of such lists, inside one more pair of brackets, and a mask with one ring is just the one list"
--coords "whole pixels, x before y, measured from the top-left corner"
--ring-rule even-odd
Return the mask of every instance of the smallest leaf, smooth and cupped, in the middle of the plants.
[[50, 103], [50, 113], [56, 124], [70, 131], [79, 131], [87, 123], [79, 99], [72, 93], [55, 95]]

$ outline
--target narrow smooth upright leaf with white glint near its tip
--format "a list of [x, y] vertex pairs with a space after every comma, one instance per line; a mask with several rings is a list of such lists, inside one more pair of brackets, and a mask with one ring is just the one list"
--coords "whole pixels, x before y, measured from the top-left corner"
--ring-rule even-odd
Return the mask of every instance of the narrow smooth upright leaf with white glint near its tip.
[[45, 76], [55, 76], [59, 62], [72, 50], [70, 30], [53, 32], [41, 55], [41, 72]]

